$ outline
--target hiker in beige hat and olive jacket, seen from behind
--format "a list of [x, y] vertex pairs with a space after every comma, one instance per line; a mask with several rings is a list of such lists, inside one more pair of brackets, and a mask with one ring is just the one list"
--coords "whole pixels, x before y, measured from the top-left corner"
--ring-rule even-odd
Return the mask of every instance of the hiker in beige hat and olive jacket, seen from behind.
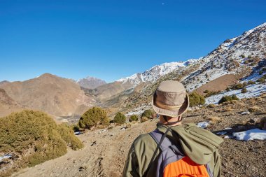
[[[189, 97], [185, 87], [177, 81], [167, 80], [158, 86], [153, 95], [153, 109], [160, 115], [158, 131], [196, 164], [208, 164], [214, 177], [221, 176], [221, 159], [218, 146], [223, 139], [194, 124], [182, 124], [182, 115], [188, 110]], [[168, 131], [171, 129], [171, 131]], [[158, 149], [150, 134], [135, 139], [127, 156], [123, 176], [155, 176], [158, 168]], [[205, 166], [204, 166], [205, 167]]]

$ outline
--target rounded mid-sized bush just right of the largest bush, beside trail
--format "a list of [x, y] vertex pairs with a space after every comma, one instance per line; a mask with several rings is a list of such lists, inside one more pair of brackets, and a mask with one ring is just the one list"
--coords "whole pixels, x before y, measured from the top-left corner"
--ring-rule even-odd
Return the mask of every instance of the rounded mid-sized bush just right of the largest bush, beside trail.
[[81, 116], [78, 125], [80, 128], [92, 129], [97, 125], [109, 125], [109, 119], [102, 108], [93, 107]]

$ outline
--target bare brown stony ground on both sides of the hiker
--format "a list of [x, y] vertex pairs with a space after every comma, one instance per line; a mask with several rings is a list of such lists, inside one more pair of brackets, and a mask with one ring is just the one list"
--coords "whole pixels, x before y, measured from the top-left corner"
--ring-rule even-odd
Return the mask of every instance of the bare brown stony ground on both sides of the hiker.
[[[207, 129], [221, 132], [226, 127], [227, 135], [258, 127], [256, 122], [266, 116], [266, 97], [234, 101], [214, 108], [201, 108], [189, 111], [184, 115], [184, 122], [202, 122], [211, 120]], [[251, 106], [258, 106], [259, 113], [241, 115]], [[139, 134], [151, 132], [158, 120], [132, 124], [113, 129], [97, 129], [81, 134], [78, 137], [85, 148], [72, 151], [55, 160], [23, 169], [13, 176], [121, 176], [128, 150], [132, 141]], [[266, 141], [237, 141], [224, 139], [219, 152], [222, 159], [222, 176], [265, 176], [266, 174]]]

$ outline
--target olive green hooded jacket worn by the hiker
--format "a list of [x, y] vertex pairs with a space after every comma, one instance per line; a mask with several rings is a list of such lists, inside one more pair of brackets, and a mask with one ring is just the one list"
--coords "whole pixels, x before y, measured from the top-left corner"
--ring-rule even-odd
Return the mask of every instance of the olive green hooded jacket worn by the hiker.
[[[158, 125], [158, 129], [160, 132], [166, 132], [167, 127]], [[197, 164], [209, 163], [214, 177], [221, 176], [221, 159], [217, 148], [223, 142], [223, 139], [206, 129], [197, 127], [195, 124], [178, 125], [171, 129], [179, 134], [181, 147], [191, 160]], [[167, 133], [167, 137], [172, 142], [179, 139], [178, 135], [173, 134], [171, 131]], [[123, 176], [144, 176], [144, 173], [147, 174], [147, 177], [155, 176], [159, 150], [154, 162], [151, 164], [151, 168], [148, 171], [147, 168], [156, 147], [157, 143], [151, 135], [141, 134], [137, 137], [128, 153]]]

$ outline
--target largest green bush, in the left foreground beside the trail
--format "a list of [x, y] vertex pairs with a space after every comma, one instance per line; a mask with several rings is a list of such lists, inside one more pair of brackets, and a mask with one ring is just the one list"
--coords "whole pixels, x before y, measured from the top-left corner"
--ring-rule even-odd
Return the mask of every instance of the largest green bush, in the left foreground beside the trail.
[[12, 113], [0, 118], [0, 125], [0, 152], [15, 155], [13, 166], [5, 173], [62, 156], [67, 152], [67, 144], [73, 149], [83, 146], [70, 127], [57, 126], [41, 111]]

